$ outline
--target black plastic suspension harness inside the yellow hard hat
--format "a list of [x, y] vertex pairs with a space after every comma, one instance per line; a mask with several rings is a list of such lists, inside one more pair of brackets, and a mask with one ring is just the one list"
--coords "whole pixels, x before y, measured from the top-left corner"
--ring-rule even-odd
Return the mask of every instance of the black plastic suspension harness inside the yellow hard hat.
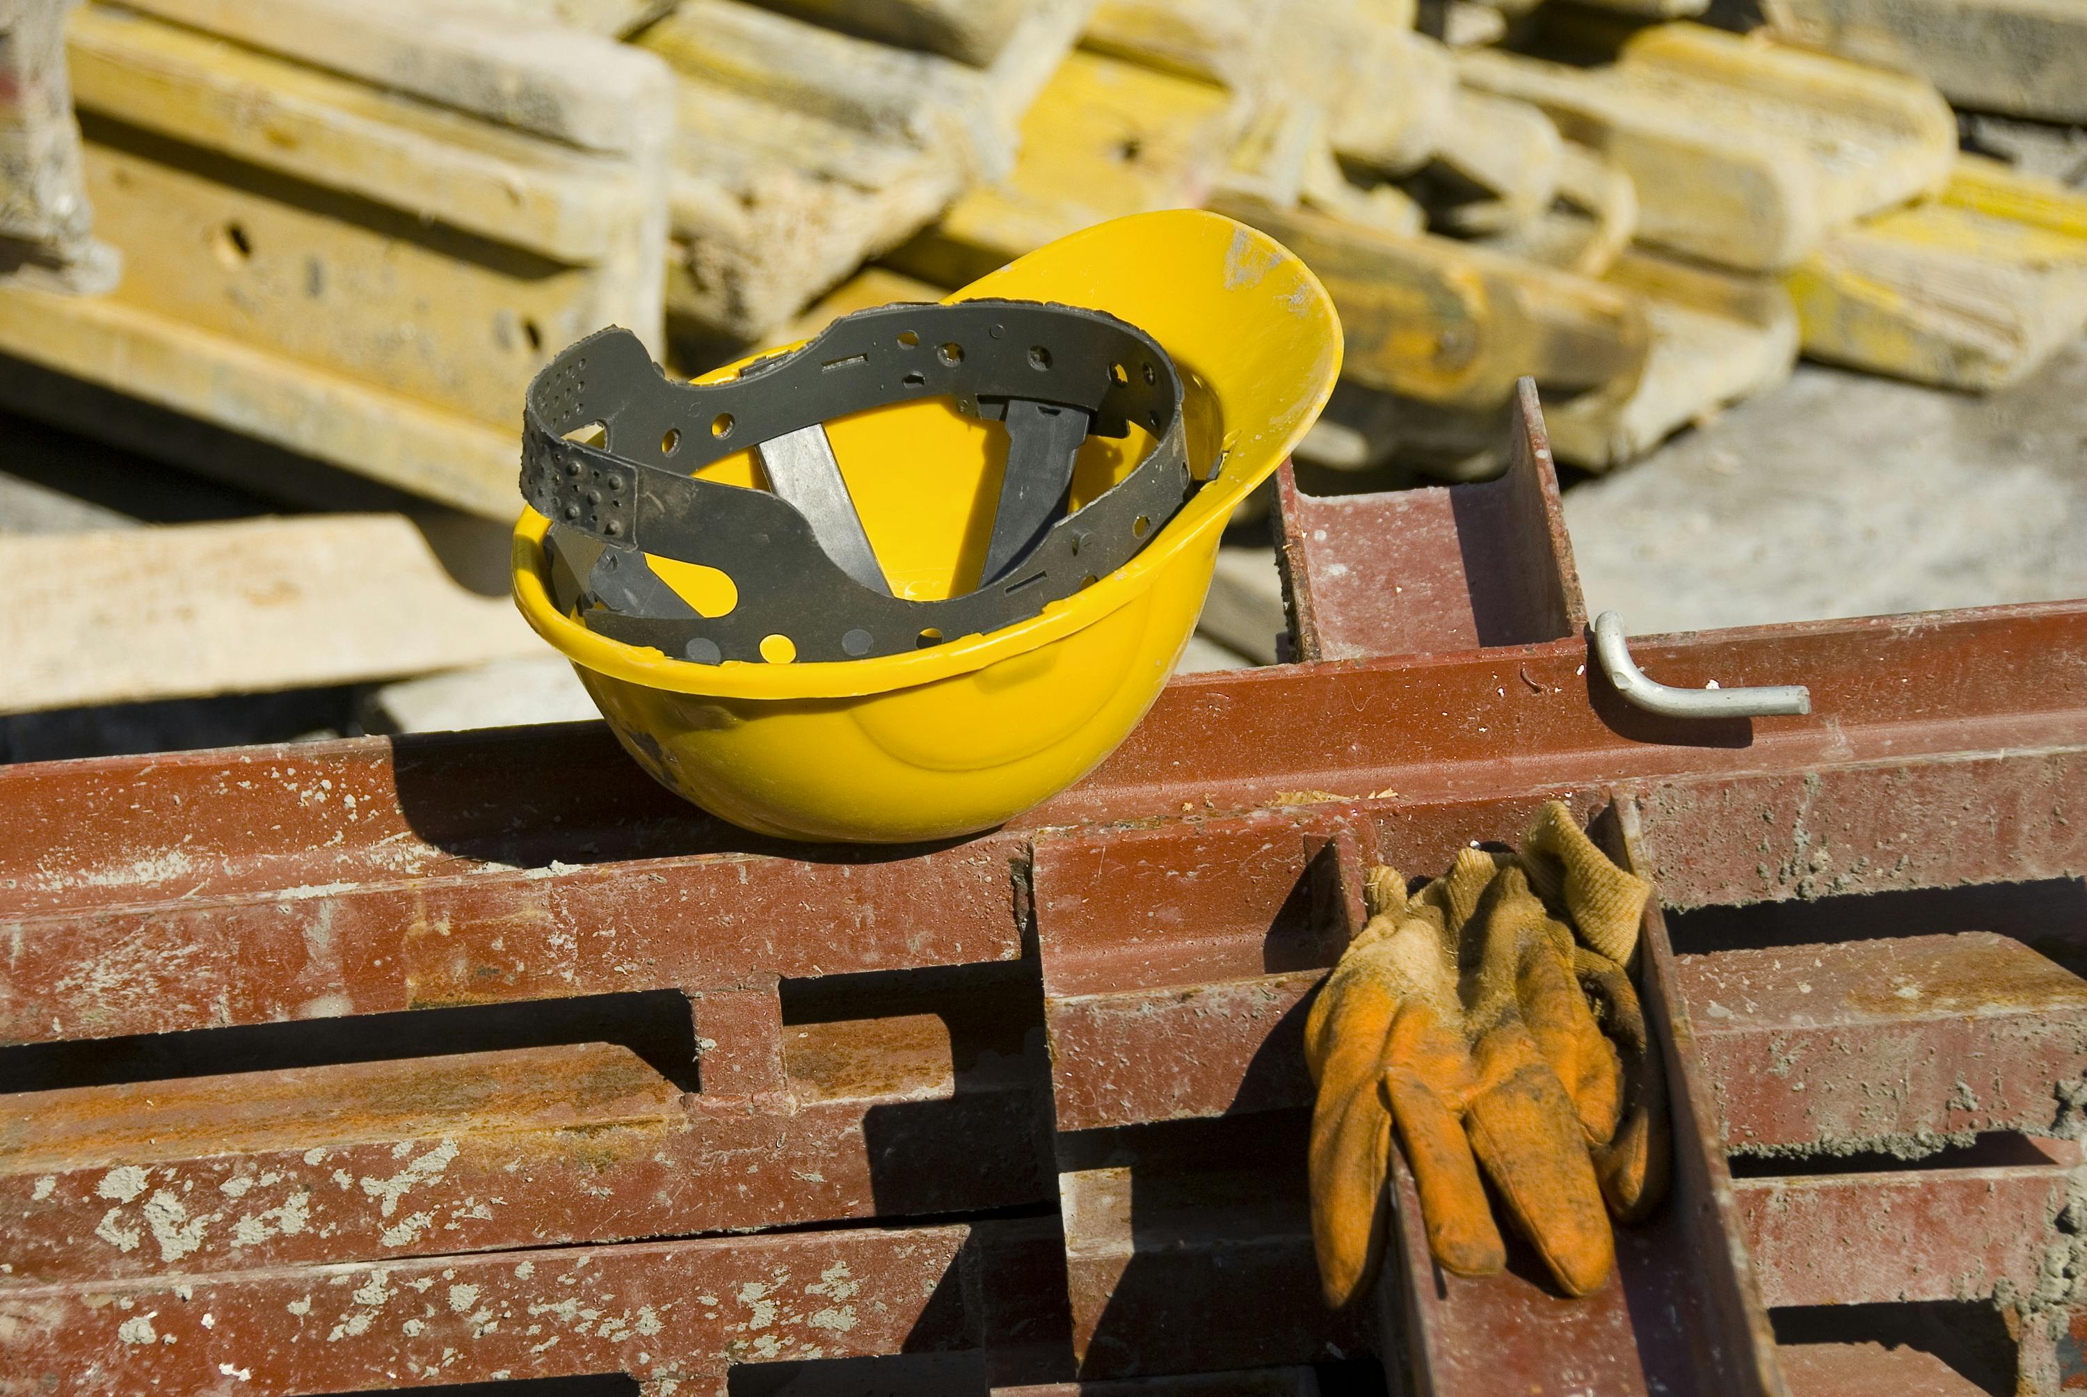
[[[1008, 428], [1008, 461], [975, 591], [891, 595], [833, 457], [824, 422], [947, 397]], [[1196, 493], [1181, 376], [1114, 315], [1025, 301], [858, 311], [810, 345], [716, 384], [668, 382], [628, 330], [566, 349], [528, 390], [522, 495], [551, 520], [553, 595], [591, 631], [716, 664], [762, 660], [789, 637], [799, 660], [860, 660], [998, 631], [1102, 578]], [[1081, 443], [1154, 447], [1069, 514]], [[601, 424], [597, 445], [568, 439]], [[755, 445], [770, 491], [695, 472]], [[645, 555], [716, 568], [737, 601], [701, 616]]]

